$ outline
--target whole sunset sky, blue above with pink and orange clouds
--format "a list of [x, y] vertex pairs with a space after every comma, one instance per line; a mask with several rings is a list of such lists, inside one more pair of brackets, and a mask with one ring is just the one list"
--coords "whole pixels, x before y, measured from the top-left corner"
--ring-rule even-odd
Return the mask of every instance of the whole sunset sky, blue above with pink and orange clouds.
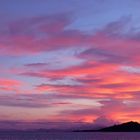
[[140, 122], [139, 4], [0, 0], [1, 126]]

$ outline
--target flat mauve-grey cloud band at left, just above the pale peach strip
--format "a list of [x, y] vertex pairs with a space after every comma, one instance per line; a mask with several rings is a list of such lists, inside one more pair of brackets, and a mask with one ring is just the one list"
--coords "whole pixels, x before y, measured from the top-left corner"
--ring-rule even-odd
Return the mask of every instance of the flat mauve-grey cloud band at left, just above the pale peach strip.
[[0, 95], [0, 105], [9, 107], [23, 107], [23, 108], [48, 108], [54, 106], [63, 106], [69, 104], [64, 101], [52, 101], [47, 95], [40, 94], [13, 94], [13, 95]]

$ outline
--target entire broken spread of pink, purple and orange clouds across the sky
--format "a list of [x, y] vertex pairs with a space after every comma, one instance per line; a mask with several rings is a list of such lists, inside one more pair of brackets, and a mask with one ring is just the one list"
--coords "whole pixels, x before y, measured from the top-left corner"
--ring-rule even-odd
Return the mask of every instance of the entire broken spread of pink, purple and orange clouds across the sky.
[[[95, 120], [102, 123], [104, 121], [102, 116], [119, 121], [129, 120], [130, 116], [133, 116], [138, 120], [139, 73], [134, 74], [121, 69], [129, 65], [131, 71], [134, 71], [135, 65], [139, 65], [138, 33], [126, 35], [124, 28], [127, 22], [122, 20], [110, 23], [92, 35], [77, 30], [66, 30], [65, 27], [69, 24], [71, 24], [69, 19], [59, 15], [26, 19], [23, 23], [21, 21], [10, 25], [10, 33], [6, 36], [7, 41], [0, 43], [2, 55], [38, 54], [40, 56], [39, 53], [50, 50], [83, 47], [85, 50], [80, 54], [75, 53], [75, 57], [85, 61], [61, 69], [46, 68], [48, 66], [46, 63], [31, 63], [27, 64], [26, 68], [12, 69], [11, 73], [19, 77], [35, 77], [43, 82], [33, 85], [33, 91], [38, 93], [38, 96], [34, 98], [25, 96], [27, 100], [15, 98], [15, 96], [12, 97], [13, 100], [4, 98], [1, 105], [22, 108], [58, 106], [60, 110], [57, 114], [48, 116], [52, 120], [63, 120], [67, 117], [68, 121], [92, 122]], [[128, 31], [128, 33], [131, 32]], [[67, 59], [65, 61], [67, 62]], [[71, 82], [74, 83], [73, 85], [70, 82], [65, 84], [68, 78], [73, 79]], [[47, 83], [48, 79], [50, 83]], [[1, 91], [14, 91], [22, 85], [19, 81], [7, 79], [1, 79], [0, 84]], [[45, 93], [48, 96], [44, 96]], [[51, 97], [49, 97], [50, 94], [52, 94]], [[75, 105], [65, 101], [69, 98], [98, 99], [101, 106], [91, 105], [92, 107], [89, 108], [83, 102], [83, 105]], [[129, 100], [134, 101], [135, 106]], [[78, 108], [75, 109], [76, 107]]]

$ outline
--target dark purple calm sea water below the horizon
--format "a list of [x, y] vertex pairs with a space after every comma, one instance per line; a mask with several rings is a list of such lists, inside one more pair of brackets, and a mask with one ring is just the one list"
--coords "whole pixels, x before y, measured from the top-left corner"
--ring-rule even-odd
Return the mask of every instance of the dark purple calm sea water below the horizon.
[[0, 140], [140, 140], [140, 133], [0, 133]]

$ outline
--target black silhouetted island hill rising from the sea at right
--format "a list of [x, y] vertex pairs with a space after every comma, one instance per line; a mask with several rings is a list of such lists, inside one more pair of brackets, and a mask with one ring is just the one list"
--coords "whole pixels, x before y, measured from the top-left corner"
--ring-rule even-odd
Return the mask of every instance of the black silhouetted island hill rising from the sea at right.
[[140, 132], [140, 124], [138, 122], [126, 122], [99, 130], [81, 130], [77, 132]]

